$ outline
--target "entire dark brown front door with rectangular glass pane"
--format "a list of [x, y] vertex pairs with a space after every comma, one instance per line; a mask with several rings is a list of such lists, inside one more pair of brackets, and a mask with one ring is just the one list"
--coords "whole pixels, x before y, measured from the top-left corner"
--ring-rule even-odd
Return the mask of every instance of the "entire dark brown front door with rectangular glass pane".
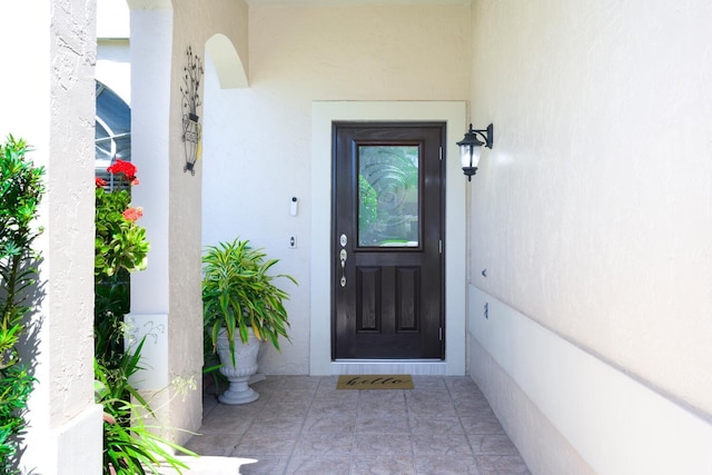
[[336, 359], [444, 357], [443, 137], [443, 123], [334, 123]]

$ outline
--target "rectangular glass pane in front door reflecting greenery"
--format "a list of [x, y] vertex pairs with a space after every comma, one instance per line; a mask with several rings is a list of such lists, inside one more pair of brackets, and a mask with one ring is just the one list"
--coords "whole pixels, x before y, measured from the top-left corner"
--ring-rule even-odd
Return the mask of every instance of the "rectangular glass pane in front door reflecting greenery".
[[418, 147], [358, 147], [358, 246], [417, 247]]

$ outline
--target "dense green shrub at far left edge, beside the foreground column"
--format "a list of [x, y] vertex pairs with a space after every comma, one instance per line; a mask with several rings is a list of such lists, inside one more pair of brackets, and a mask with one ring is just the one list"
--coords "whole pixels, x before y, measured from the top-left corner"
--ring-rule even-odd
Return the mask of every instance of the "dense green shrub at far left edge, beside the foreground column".
[[18, 343], [27, 333], [39, 255], [32, 243], [41, 232], [33, 221], [44, 194], [44, 169], [27, 159], [22, 139], [0, 145], [0, 474], [13, 468], [27, 422], [27, 400], [34, 378], [20, 360]]

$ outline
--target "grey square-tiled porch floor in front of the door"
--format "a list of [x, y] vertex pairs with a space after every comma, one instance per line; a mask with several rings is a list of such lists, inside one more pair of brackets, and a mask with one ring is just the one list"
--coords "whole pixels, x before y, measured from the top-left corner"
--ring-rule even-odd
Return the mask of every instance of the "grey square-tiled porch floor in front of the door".
[[188, 448], [246, 457], [248, 474], [530, 474], [468, 377], [415, 376], [411, 390], [339, 390], [336, 376], [268, 376], [254, 403], [206, 395]]

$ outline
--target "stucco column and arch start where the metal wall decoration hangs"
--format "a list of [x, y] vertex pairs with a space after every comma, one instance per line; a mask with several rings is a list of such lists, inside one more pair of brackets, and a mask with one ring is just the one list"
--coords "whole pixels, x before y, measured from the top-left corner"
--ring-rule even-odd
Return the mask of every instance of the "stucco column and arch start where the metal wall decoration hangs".
[[[132, 276], [131, 314], [165, 329], [161, 344], [152, 348], [147, 365], [160, 370], [150, 375], [146, 389], [169, 428], [196, 431], [201, 420], [202, 304], [200, 299], [201, 162], [185, 172], [182, 142], [184, 68], [187, 49], [205, 61], [205, 43], [216, 33], [228, 38], [236, 50], [246, 50], [247, 6], [243, 1], [131, 0], [131, 105], [132, 159], [141, 186], [134, 201], [145, 206], [141, 224], [151, 250], [148, 268]], [[198, 92], [204, 99], [201, 78]], [[196, 113], [205, 120], [202, 107]], [[160, 366], [159, 366], [160, 365]], [[165, 366], [164, 366], [165, 365]], [[181, 443], [188, 433], [170, 431]]]

